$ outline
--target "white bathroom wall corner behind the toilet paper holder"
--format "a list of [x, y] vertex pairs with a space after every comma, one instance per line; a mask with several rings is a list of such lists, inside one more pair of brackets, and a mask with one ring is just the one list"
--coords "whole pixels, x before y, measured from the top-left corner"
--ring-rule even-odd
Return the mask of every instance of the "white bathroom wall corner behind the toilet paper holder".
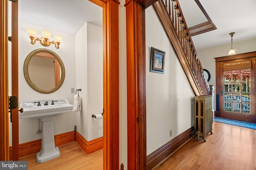
[[86, 141], [103, 136], [103, 119], [93, 114], [103, 109], [103, 32], [102, 27], [86, 23], [76, 34], [76, 89], [82, 111], [76, 112], [77, 131]]

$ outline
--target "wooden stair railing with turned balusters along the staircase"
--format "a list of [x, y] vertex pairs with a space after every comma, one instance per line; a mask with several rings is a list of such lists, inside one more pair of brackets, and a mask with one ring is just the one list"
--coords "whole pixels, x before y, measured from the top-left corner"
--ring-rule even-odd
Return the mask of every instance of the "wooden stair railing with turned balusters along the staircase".
[[209, 95], [210, 86], [208, 84], [206, 76], [204, 75], [204, 70], [199, 61], [196, 49], [194, 48], [194, 43], [191, 39], [188, 27], [184, 20], [180, 4], [178, 0], [165, 0], [164, 4], [166, 6], [166, 10], [169, 14], [169, 17], [172, 21], [172, 24], [176, 30], [176, 33], [179, 37], [184, 53], [186, 54], [186, 58], [188, 60], [190, 68], [194, 74], [198, 86], [200, 87], [202, 95]]

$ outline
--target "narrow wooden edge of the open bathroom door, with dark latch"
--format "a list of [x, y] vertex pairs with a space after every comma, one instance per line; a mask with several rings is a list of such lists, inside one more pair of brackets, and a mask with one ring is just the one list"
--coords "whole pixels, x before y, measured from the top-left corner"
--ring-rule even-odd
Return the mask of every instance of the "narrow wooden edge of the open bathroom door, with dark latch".
[[[12, 2], [12, 96], [19, 99], [18, 88], [18, 2]], [[18, 105], [19, 101], [17, 101]], [[19, 110], [12, 109], [12, 160], [19, 160]]]

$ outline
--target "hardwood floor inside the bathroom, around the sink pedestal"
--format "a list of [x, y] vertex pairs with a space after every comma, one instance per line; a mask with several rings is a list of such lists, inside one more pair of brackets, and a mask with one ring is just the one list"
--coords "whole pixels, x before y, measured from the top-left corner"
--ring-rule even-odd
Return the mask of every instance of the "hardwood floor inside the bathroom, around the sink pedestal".
[[86, 154], [73, 143], [58, 147], [60, 156], [42, 164], [36, 163], [36, 154], [21, 158], [28, 161], [28, 170], [102, 170], [103, 150], [86, 156]]

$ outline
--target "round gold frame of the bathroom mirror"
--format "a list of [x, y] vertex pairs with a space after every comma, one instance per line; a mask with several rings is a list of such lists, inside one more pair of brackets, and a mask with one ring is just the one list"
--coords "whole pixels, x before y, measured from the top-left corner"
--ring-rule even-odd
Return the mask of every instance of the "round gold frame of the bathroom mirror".
[[[53, 55], [57, 60], [58, 62], [60, 63], [60, 68], [61, 68], [61, 78], [60, 78], [60, 82], [57, 86], [55, 86], [55, 88], [53, 88], [52, 90], [41, 90], [39, 88], [37, 88], [36, 86], [34, 86], [34, 84], [32, 83], [30, 77], [29, 77], [29, 74], [28, 74], [28, 64], [30, 62], [30, 59], [37, 53], [40, 53], [40, 52], [46, 52], [46, 53], [50, 53], [51, 55]], [[24, 66], [23, 66], [23, 73], [24, 73], [24, 77], [25, 77], [25, 80], [26, 82], [28, 83], [28, 85], [33, 89], [35, 90], [36, 92], [39, 92], [39, 93], [44, 93], [44, 94], [49, 94], [49, 93], [53, 93], [55, 92], [56, 90], [58, 90], [63, 82], [64, 82], [64, 78], [65, 78], [65, 67], [64, 67], [64, 64], [62, 62], [62, 60], [60, 59], [60, 57], [54, 53], [53, 51], [49, 50], [49, 49], [36, 49], [34, 51], [32, 51], [31, 53], [28, 54], [28, 56], [26, 57], [25, 61], [24, 61]]]

